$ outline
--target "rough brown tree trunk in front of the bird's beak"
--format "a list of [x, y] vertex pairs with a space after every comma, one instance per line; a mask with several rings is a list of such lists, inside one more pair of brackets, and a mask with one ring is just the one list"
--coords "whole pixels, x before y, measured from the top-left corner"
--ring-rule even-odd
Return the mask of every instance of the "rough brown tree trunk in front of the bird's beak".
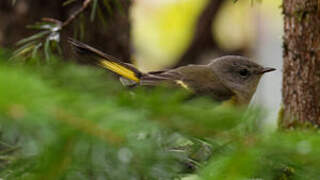
[[285, 34], [280, 126], [285, 128], [320, 125], [319, 5], [318, 0], [283, 1]]

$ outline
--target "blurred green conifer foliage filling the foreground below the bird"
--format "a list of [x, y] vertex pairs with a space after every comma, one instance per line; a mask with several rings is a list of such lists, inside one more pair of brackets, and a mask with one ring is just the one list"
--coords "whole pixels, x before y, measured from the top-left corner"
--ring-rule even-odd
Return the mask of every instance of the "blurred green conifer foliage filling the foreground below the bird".
[[125, 89], [93, 67], [53, 61], [37, 68], [36, 60], [0, 56], [3, 179], [320, 175], [319, 133], [266, 131], [259, 109], [221, 107], [167, 87]]

